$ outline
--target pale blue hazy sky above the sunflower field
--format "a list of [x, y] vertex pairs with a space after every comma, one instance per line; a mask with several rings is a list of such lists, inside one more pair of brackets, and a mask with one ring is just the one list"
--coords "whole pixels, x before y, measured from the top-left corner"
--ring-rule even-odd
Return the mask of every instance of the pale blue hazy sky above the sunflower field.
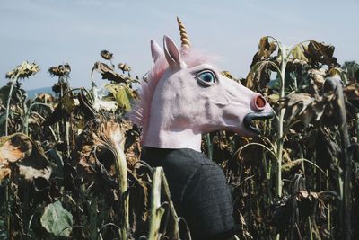
[[[178, 46], [176, 16], [186, 25], [192, 46], [219, 58], [218, 67], [247, 76], [262, 36], [285, 45], [317, 40], [336, 47], [339, 63], [359, 60], [359, 1], [150, 1], [0, 0], [0, 86], [6, 72], [23, 60], [41, 71], [24, 79], [25, 90], [52, 86], [48, 67], [69, 63], [72, 87], [90, 87], [100, 52], [114, 54], [132, 74], [152, 66], [150, 40], [168, 35]], [[101, 76], [95, 76], [98, 84]]]

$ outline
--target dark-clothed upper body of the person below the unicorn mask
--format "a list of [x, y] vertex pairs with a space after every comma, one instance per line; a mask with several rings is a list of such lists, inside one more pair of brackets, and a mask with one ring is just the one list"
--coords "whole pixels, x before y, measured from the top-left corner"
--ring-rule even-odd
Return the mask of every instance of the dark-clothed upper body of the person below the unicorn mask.
[[190, 148], [144, 147], [142, 157], [162, 166], [179, 217], [186, 220], [192, 239], [224, 240], [234, 235], [232, 198], [223, 170]]

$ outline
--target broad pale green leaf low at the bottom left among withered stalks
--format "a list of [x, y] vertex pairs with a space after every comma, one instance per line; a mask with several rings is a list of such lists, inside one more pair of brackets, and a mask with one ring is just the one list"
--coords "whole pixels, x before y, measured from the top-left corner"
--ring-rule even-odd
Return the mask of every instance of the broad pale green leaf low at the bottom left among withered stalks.
[[40, 221], [42, 227], [45, 227], [48, 233], [54, 236], [68, 237], [71, 234], [72, 228], [70, 226], [73, 225], [73, 215], [62, 207], [60, 201], [48, 204]]

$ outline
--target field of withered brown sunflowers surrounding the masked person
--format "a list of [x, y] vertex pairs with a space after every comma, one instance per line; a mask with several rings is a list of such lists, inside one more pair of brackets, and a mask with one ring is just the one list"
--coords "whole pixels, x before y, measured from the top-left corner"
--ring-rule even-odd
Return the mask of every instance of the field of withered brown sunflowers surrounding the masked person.
[[[277, 233], [280, 239], [341, 239], [340, 198], [346, 167], [343, 142], [349, 140], [351, 230], [356, 239], [359, 67], [355, 62], [339, 66], [333, 46], [314, 40], [298, 44], [287, 59], [285, 97], [280, 98], [277, 72], [283, 56], [278, 44], [270, 37], [259, 40], [245, 79], [227, 71], [222, 74], [263, 93], [276, 112], [285, 110], [279, 169], [282, 195], [276, 196], [276, 119], [254, 123], [262, 129], [258, 138], [241, 138], [226, 131], [207, 134], [202, 150], [226, 175], [240, 239], [268, 239]], [[115, 69], [109, 51], [101, 51], [101, 57], [110, 65], [96, 62], [92, 77], [98, 72], [109, 80], [103, 92], [96, 92], [94, 79], [90, 91], [74, 91], [68, 82], [68, 65], [49, 68], [51, 76], [58, 77], [54, 95], [39, 94], [29, 100], [21, 85], [15, 85], [8, 127], [11, 135], [0, 138], [1, 239], [118, 239], [127, 197], [127, 238], [144, 239], [147, 235], [153, 169], [140, 161], [141, 129], [126, 120], [136, 98], [131, 84], [138, 80], [129, 73], [123, 75], [131, 70], [126, 64]], [[339, 78], [342, 88], [326, 84], [328, 77]], [[8, 85], [0, 88], [2, 132], [8, 94]], [[346, 100], [344, 104], [339, 102], [340, 96]], [[340, 113], [344, 109], [345, 137]], [[123, 194], [118, 191], [118, 151], [127, 160], [128, 188]], [[185, 221], [171, 210], [171, 195], [164, 186], [161, 191], [165, 214], [160, 236], [177, 239], [174, 231], [179, 222], [180, 239], [189, 239]], [[52, 224], [54, 216], [60, 216], [56, 224]]]

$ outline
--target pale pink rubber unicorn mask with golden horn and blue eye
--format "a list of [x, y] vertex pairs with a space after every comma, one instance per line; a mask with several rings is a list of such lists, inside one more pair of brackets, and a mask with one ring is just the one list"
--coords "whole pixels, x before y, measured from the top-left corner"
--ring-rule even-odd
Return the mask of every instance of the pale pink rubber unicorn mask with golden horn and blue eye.
[[274, 116], [267, 101], [221, 75], [210, 58], [191, 49], [178, 21], [181, 48], [167, 36], [163, 49], [151, 41], [153, 69], [130, 113], [143, 128], [144, 146], [200, 151], [201, 134], [220, 129], [257, 136], [260, 131], [251, 121]]

